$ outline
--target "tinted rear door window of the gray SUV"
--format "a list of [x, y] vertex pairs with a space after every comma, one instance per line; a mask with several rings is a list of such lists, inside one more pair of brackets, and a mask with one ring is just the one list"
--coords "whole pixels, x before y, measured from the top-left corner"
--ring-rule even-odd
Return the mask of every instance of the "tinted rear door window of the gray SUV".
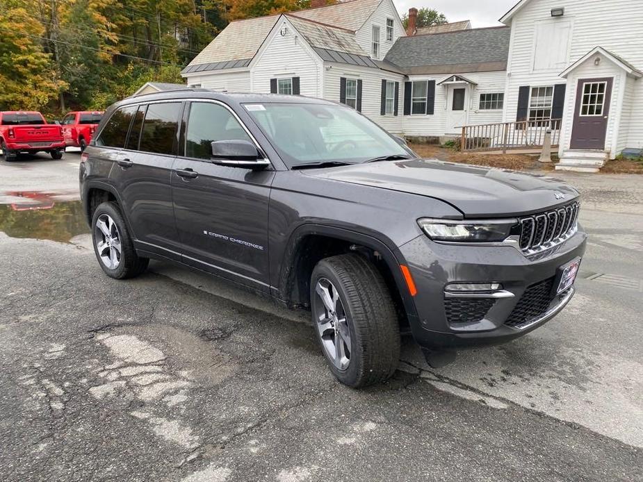
[[180, 114], [181, 102], [149, 104], [140, 133], [139, 150], [176, 156]]

